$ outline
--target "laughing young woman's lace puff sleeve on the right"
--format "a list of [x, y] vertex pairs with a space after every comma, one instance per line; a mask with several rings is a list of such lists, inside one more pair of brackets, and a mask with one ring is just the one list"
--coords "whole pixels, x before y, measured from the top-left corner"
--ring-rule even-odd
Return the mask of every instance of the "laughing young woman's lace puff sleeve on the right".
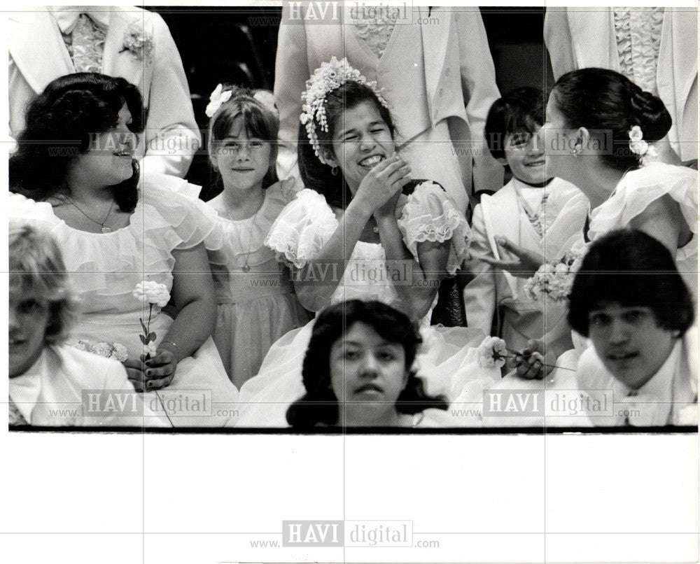
[[451, 239], [446, 267], [449, 276], [454, 276], [468, 255], [472, 233], [467, 220], [457, 211], [444, 190], [433, 182], [416, 186], [397, 223], [404, 243], [416, 260], [419, 243], [444, 243]]

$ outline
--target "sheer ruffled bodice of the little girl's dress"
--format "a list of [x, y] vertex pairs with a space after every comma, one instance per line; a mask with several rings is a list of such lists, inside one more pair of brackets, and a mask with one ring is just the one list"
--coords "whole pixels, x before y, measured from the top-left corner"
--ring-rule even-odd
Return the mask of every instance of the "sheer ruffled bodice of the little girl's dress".
[[272, 260], [272, 251], [265, 246], [270, 226], [288, 203], [280, 190], [280, 183], [267, 188], [265, 202], [255, 216], [232, 221], [218, 216], [218, 226], [204, 244], [212, 265], [240, 268], [262, 265]]

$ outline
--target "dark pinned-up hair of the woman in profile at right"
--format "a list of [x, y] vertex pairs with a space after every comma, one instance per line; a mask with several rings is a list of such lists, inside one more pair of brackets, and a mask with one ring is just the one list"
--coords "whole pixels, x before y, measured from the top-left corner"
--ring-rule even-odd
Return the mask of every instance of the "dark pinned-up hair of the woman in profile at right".
[[653, 143], [662, 139], [673, 123], [659, 97], [608, 69], [568, 72], [556, 81], [552, 96], [567, 127], [610, 132], [601, 159], [622, 171], [639, 164], [637, 155], [629, 148], [632, 127], [638, 125], [644, 140]]

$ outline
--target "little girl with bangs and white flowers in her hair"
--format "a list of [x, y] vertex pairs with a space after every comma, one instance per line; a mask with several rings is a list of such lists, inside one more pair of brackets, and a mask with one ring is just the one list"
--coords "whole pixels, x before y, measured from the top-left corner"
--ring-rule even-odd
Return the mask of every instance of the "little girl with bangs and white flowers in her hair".
[[218, 85], [207, 106], [209, 159], [223, 183], [209, 201], [221, 229], [206, 241], [218, 304], [214, 343], [237, 388], [258, 373], [274, 341], [309, 320], [288, 269], [263, 244], [290, 183], [277, 181], [279, 119], [266, 95]]

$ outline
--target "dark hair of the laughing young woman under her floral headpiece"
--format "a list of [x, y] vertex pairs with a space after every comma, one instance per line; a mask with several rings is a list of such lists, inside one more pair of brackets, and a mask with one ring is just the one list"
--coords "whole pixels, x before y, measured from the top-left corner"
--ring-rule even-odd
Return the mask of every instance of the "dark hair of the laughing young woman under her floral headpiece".
[[[325, 118], [328, 120], [328, 131], [323, 131], [314, 121], [316, 136], [318, 136], [318, 143], [321, 145], [322, 150], [332, 153], [332, 139], [335, 134], [335, 126], [338, 120], [342, 118], [343, 111], [354, 108], [365, 101], [369, 101], [374, 106], [377, 106], [379, 115], [388, 126], [391, 136], [395, 135], [396, 129], [391, 119], [391, 113], [379, 103], [377, 94], [374, 94], [367, 85], [349, 80], [325, 95], [324, 107]], [[298, 141], [299, 173], [304, 186], [323, 195], [329, 206], [345, 209], [352, 199], [352, 195], [343, 175], [332, 174], [332, 167], [318, 160], [316, 153], [314, 153], [314, 148], [307, 137], [306, 127], [302, 124], [299, 125]]]

